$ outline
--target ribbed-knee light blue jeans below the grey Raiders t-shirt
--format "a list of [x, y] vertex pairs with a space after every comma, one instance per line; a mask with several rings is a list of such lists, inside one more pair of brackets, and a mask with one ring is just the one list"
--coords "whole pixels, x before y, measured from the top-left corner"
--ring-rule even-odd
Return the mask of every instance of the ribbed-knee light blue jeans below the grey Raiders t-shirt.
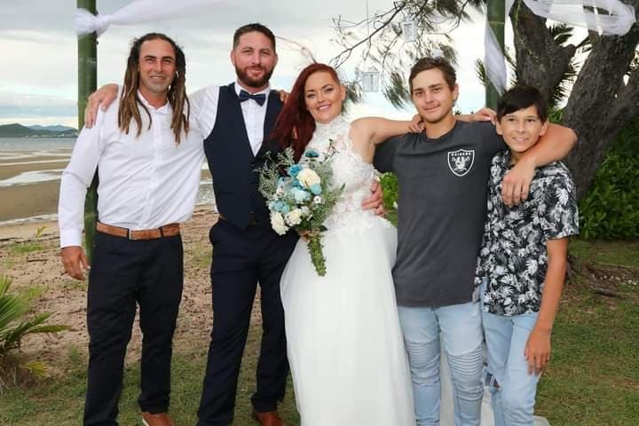
[[439, 424], [439, 331], [453, 379], [456, 426], [478, 426], [483, 396], [482, 328], [480, 304], [439, 308], [399, 306], [413, 381], [418, 426]]

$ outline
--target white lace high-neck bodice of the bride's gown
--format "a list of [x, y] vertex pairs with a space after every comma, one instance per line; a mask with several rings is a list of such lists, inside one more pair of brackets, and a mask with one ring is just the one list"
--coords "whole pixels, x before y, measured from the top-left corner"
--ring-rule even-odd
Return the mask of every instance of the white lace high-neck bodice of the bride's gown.
[[[344, 184], [340, 201], [327, 217], [327, 232], [341, 234], [365, 232], [381, 219], [375, 217], [373, 210], [362, 210], [361, 202], [370, 196], [370, 188], [375, 179], [375, 168], [364, 162], [361, 155], [352, 149], [349, 138], [351, 123], [342, 116], [332, 122], [321, 124], [316, 122], [316, 129], [307, 148], [317, 150], [320, 155], [327, 153], [331, 141], [335, 147], [333, 155], [333, 181], [335, 185]], [[390, 225], [383, 220], [384, 225]]]

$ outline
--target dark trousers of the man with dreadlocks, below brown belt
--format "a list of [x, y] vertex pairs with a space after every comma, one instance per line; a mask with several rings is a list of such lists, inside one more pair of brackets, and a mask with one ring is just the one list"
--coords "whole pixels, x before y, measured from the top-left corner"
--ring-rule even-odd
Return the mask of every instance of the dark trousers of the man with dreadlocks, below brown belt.
[[113, 426], [136, 304], [143, 334], [142, 411], [168, 411], [173, 332], [183, 287], [179, 235], [149, 241], [96, 233], [89, 275], [89, 372], [85, 426]]

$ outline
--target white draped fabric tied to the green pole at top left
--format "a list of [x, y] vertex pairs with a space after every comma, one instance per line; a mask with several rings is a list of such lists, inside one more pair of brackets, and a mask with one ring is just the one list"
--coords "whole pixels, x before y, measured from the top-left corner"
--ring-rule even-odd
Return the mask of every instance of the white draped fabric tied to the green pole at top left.
[[96, 32], [98, 36], [111, 24], [133, 25], [143, 22], [170, 20], [194, 14], [212, 13], [213, 5], [224, 0], [134, 0], [110, 15], [77, 9], [75, 11], [75, 33], [78, 36]]

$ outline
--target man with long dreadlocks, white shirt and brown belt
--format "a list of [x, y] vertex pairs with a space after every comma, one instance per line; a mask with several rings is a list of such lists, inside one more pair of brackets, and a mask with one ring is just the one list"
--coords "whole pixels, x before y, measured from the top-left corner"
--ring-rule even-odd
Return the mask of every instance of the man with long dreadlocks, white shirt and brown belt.
[[85, 426], [117, 425], [122, 367], [139, 305], [142, 343], [138, 404], [146, 426], [172, 426], [171, 342], [182, 296], [180, 222], [195, 204], [204, 153], [189, 126], [185, 55], [151, 33], [133, 42], [119, 102], [84, 128], [62, 174], [62, 263], [83, 280], [83, 203], [99, 173], [99, 222], [89, 274], [89, 372]]

